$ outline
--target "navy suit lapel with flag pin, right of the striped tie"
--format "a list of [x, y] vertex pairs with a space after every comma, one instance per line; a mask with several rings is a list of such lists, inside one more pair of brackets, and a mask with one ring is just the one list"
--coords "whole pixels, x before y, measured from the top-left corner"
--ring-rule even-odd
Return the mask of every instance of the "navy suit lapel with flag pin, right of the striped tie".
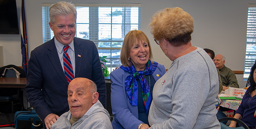
[[82, 67], [83, 61], [83, 48], [81, 47], [81, 41], [78, 40], [76, 37], [74, 38], [74, 47], [75, 47], [75, 62], [76, 62], [76, 73], [75, 78], [80, 75], [80, 70]]

